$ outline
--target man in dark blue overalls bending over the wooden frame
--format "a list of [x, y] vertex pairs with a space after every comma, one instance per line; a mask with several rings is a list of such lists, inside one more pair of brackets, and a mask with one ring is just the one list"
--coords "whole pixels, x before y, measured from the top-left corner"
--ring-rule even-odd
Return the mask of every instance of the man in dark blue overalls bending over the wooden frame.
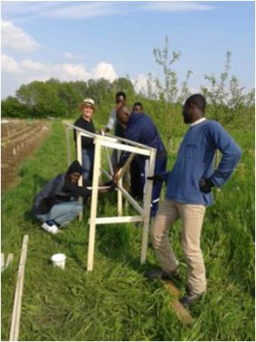
[[[145, 113], [131, 113], [127, 107], [122, 106], [116, 110], [116, 118], [125, 127], [124, 137], [133, 142], [140, 142], [149, 147], [156, 149], [156, 166], [155, 173], [165, 171], [167, 164], [167, 153], [156, 126]], [[129, 158], [129, 152], [123, 152], [120, 161], [113, 175], [113, 181], [118, 180], [118, 171], [124, 167], [125, 161]], [[146, 192], [146, 177], [148, 173], [148, 158], [140, 156], [140, 198], [144, 199]], [[155, 183], [152, 191], [150, 216], [156, 216], [162, 183]]]

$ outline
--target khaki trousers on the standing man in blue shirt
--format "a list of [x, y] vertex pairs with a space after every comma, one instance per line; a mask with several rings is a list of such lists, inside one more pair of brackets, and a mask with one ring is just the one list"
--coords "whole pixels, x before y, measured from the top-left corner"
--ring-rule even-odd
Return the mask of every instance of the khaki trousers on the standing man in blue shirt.
[[179, 265], [170, 245], [168, 233], [174, 222], [181, 219], [181, 243], [188, 265], [188, 289], [201, 293], [206, 289], [205, 268], [200, 248], [200, 235], [204, 220], [203, 205], [183, 204], [169, 199], [157, 211], [150, 228], [150, 238], [156, 257], [164, 272], [173, 272]]

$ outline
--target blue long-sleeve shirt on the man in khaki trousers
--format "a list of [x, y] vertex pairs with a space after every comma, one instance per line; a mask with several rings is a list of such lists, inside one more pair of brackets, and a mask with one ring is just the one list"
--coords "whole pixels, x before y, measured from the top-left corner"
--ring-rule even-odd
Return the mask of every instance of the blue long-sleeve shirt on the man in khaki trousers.
[[[220, 164], [213, 171], [213, 159], [220, 150]], [[210, 178], [221, 187], [232, 174], [241, 150], [222, 126], [213, 120], [204, 120], [191, 126], [185, 134], [172, 171], [163, 173], [167, 183], [166, 199], [180, 203], [211, 206], [212, 191], [204, 193], [199, 189], [201, 178]]]

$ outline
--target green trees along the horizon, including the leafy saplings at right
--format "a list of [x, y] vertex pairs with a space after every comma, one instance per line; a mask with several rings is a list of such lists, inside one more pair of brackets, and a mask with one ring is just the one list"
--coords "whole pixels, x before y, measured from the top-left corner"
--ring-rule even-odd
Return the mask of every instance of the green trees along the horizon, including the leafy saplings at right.
[[[135, 92], [129, 77], [119, 77], [110, 82], [105, 78], [89, 79], [76, 82], [60, 82], [51, 78], [46, 82], [33, 81], [21, 85], [15, 96], [2, 101], [2, 116], [5, 118], [70, 118], [77, 115], [79, 105], [84, 97], [92, 97], [100, 118], [107, 119], [108, 111], [113, 106], [115, 94], [124, 91], [130, 105], [132, 102], [143, 102], [147, 112], [152, 112], [156, 120], [164, 122], [164, 135], [171, 138], [170, 127], [175, 129], [175, 116], [180, 115], [182, 102], [190, 95], [188, 82], [193, 74], [188, 70], [186, 77], [180, 81], [175, 63], [180, 59], [180, 52], [170, 51], [168, 37], [164, 47], [153, 50], [156, 64], [159, 66], [159, 77], [148, 73], [146, 89]], [[239, 126], [251, 125], [254, 118], [255, 89], [244, 93], [236, 76], [230, 75], [231, 53], [226, 53], [226, 61], [220, 77], [204, 75], [206, 85], [200, 87], [207, 102], [207, 117], [214, 118], [226, 126], [236, 122]], [[97, 110], [97, 111], [98, 111]], [[102, 113], [102, 115], [101, 115]], [[174, 120], [173, 120], [174, 118]], [[166, 134], [165, 134], [166, 133]]]

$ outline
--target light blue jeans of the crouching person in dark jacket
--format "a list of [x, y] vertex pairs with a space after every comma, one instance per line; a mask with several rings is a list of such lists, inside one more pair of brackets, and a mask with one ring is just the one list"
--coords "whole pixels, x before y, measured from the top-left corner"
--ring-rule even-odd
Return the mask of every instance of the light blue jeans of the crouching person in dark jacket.
[[60, 226], [65, 227], [83, 210], [83, 203], [77, 200], [70, 200], [69, 202], [62, 202], [55, 204], [49, 213], [44, 215], [36, 215], [40, 221], [54, 220]]

